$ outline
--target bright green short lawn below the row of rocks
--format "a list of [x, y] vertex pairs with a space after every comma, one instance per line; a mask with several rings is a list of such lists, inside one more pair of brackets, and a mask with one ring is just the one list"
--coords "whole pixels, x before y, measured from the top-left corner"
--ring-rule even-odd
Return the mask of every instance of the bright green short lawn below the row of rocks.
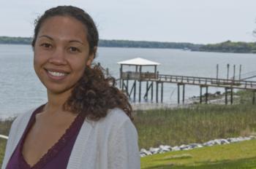
[[256, 168], [256, 140], [209, 146], [141, 158], [144, 169], [241, 169]]

